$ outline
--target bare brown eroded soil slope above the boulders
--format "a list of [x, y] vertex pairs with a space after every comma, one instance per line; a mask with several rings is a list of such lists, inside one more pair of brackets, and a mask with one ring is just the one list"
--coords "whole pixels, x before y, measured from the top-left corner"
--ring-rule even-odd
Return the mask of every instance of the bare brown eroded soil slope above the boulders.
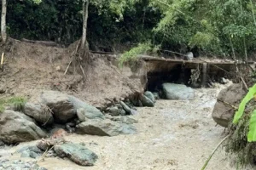
[[9, 48], [5, 48], [4, 71], [0, 72], [0, 88], [6, 91], [4, 96], [26, 95], [30, 98], [42, 89], [52, 89], [102, 106], [109, 99], [142, 92], [139, 79], [125, 76], [131, 76], [131, 70], [126, 68], [125, 74], [121, 72], [113, 65], [113, 56], [93, 55], [86, 82], [81, 75], [73, 73], [72, 66], [64, 76], [75, 48], [76, 43], [69, 48], [56, 48], [11, 39]]

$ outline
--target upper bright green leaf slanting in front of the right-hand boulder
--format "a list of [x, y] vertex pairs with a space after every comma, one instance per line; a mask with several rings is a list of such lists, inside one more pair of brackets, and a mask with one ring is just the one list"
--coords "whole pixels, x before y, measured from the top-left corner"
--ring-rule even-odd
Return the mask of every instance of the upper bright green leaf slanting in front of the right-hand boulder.
[[234, 117], [233, 123], [236, 124], [241, 116], [243, 115], [243, 112], [245, 110], [245, 107], [247, 103], [253, 99], [254, 94], [256, 94], [256, 84], [253, 86], [253, 88], [249, 89], [249, 92], [247, 93], [246, 97], [241, 100], [241, 104], [239, 105], [238, 111], [236, 111], [236, 115]]

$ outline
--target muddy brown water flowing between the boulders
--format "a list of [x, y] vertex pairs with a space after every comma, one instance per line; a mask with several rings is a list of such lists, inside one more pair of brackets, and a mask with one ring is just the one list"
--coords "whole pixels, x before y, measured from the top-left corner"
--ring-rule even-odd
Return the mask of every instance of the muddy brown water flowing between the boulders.
[[[84, 142], [99, 156], [94, 167], [79, 167], [71, 161], [48, 158], [39, 163], [49, 170], [199, 170], [224, 128], [216, 127], [212, 109], [220, 88], [196, 89], [193, 101], [158, 100], [154, 108], [140, 108], [136, 135], [94, 137], [73, 134], [67, 140]], [[19, 147], [21, 147], [21, 144]], [[219, 149], [207, 169], [235, 170]]]

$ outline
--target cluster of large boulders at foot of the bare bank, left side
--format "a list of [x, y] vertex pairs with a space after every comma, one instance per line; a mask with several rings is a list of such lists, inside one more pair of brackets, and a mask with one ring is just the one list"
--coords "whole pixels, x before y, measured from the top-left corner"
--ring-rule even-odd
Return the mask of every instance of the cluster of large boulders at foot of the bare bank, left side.
[[[26, 103], [23, 111], [7, 110], [0, 114], [0, 140], [16, 144], [42, 139], [56, 123], [81, 134], [114, 136], [137, 132], [131, 124], [113, 122], [96, 107], [71, 95], [44, 91], [35, 101]], [[130, 108], [123, 105], [124, 110], [129, 111]]]

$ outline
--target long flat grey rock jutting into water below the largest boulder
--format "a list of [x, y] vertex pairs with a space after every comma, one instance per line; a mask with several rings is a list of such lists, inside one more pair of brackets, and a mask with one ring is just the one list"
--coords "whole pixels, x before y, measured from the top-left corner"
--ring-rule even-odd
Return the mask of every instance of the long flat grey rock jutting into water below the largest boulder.
[[137, 133], [136, 127], [111, 120], [93, 119], [82, 122], [77, 126], [77, 133], [98, 136], [117, 136], [119, 134]]

